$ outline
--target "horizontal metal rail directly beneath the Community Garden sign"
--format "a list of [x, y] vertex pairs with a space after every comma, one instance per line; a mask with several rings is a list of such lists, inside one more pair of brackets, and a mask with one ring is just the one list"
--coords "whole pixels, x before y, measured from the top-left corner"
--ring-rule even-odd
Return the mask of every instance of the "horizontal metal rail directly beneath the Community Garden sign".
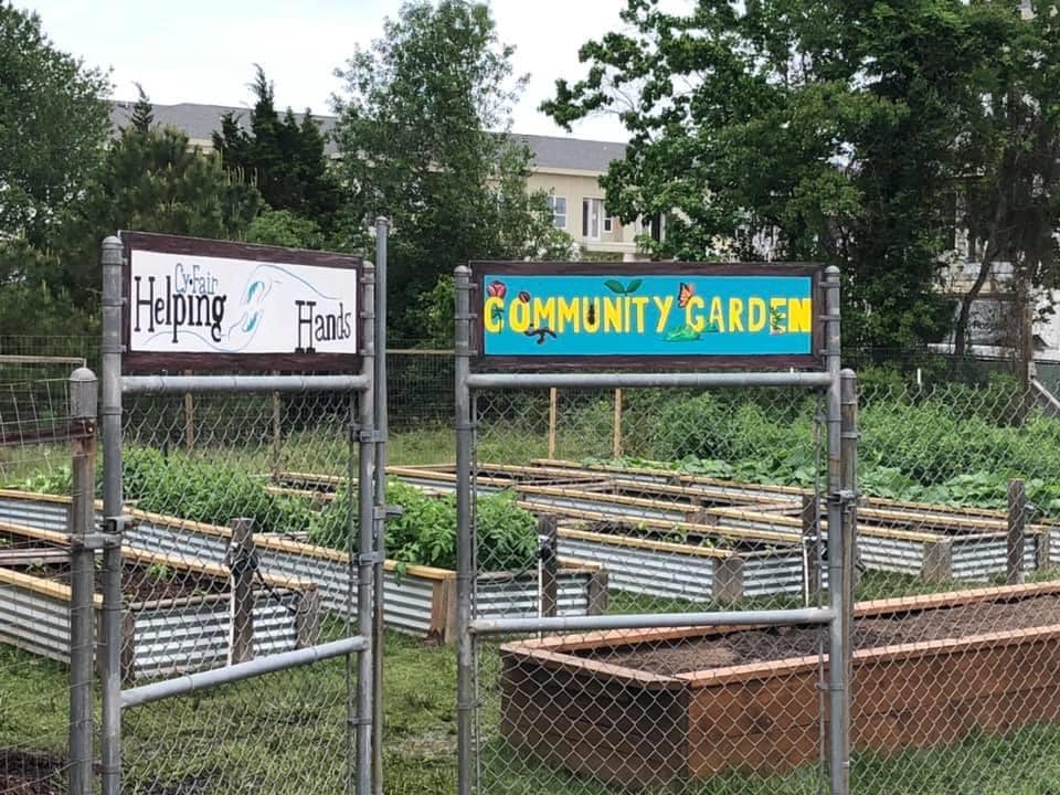
[[701, 372], [701, 373], [471, 373], [467, 385], [490, 389], [619, 389], [619, 388], [745, 388], [801, 386], [827, 389], [834, 377], [827, 372]]

